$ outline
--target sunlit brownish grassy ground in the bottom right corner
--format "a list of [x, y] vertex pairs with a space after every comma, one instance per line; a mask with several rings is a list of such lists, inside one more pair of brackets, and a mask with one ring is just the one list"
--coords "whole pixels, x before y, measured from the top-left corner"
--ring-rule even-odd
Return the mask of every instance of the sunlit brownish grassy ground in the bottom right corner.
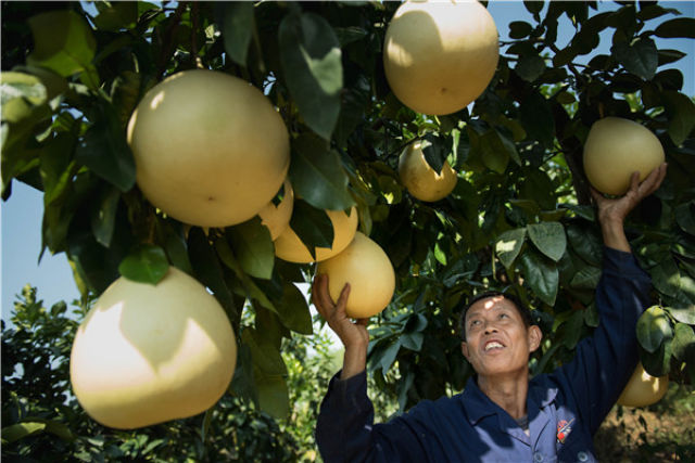
[[695, 462], [695, 390], [672, 385], [654, 406], [615, 407], [594, 443], [605, 462]]

